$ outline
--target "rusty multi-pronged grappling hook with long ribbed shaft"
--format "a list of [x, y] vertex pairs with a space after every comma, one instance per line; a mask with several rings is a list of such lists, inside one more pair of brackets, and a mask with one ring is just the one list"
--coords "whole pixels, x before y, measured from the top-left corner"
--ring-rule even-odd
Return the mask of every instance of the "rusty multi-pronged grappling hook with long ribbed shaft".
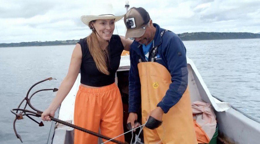
[[[12, 112], [14, 115], [16, 115], [16, 117], [15, 117], [15, 119], [14, 119], [14, 123], [13, 123], [14, 133], [15, 133], [16, 137], [21, 140], [22, 143], [23, 143], [23, 141], [22, 141], [22, 139], [21, 139], [21, 136], [20, 136], [20, 135], [17, 133], [17, 131], [16, 131], [15, 122], [16, 122], [16, 120], [22, 120], [22, 119], [23, 119], [23, 116], [27, 116], [28, 118], [30, 118], [31, 120], [33, 120], [34, 122], [36, 122], [39, 126], [44, 126], [44, 124], [43, 124], [42, 121], [41, 121], [41, 122], [37, 122], [36, 120], [34, 120], [33, 118], [31, 118], [31, 116], [41, 117], [41, 115], [42, 115], [42, 113], [43, 113], [42, 111], [36, 109], [35, 107], [33, 107], [33, 106], [31, 105], [31, 97], [34, 96], [37, 92], [47, 91], [47, 90], [52, 90], [53, 92], [57, 92], [58, 89], [57, 89], [57, 88], [53, 88], [53, 89], [37, 90], [37, 91], [34, 92], [29, 98], [28, 98], [28, 96], [29, 96], [29, 93], [30, 93], [31, 89], [32, 89], [34, 86], [36, 86], [37, 84], [40, 84], [40, 83], [42, 83], [42, 82], [45, 82], [45, 81], [47, 81], [47, 80], [52, 80], [52, 79], [55, 79], [55, 78], [49, 77], [49, 78], [44, 79], [44, 80], [42, 80], [42, 81], [40, 81], [40, 82], [37, 82], [37, 83], [35, 83], [33, 86], [31, 86], [31, 88], [29, 88], [29, 90], [28, 90], [28, 92], [27, 92], [25, 98], [24, 98], [24, 99], [21, 101], [21, 103], [19, 104], [18, 108], [11, 110], [11, 112]], [[55, 79], [55, 80], [56, 80], [56, 79]], [[23, 103], [24, 101], [26, 101], [25, 107], [24, 107], [23, 109], [21, 109], [20, 106], [22, 105], [22, 103]], [[26, 109], [26, 106], [27, 106], [27, 105], [29, 105], [29, 107], [31, 107], [31, 109], [33, 109], [34, 111], [27, 110], [27, 109]], [[14, 112], [14, 111], [16, 111], [16, 112]], [[21, 112], [18, 113], [18, 111], [21, 111]], [[62, 121], [62, 120], [53, 118], [53, 117], [51, 117], [51, 116], [50, 116], [50, 118], [51, 118], [51, 120], [54, 121], [54, 122], [58, 122], [58, 123], [60, 123], [60, 124], [64, 124], [64, 125], [66, 125], [66, 126], [75, 128], [75, 129], [77, 129], [77, 130], [81, 130], [81, 131], [83, 131], [83, 132], [87, 132], [87, 133], [92, 134], [92, 135], [94, 135], [94, 136], [96, 136], [96, 137], [100, 137], [100, 138], [107, 139], [107, 140], [112, 139], [112, 138], [106, 137], [106, 136], [104, 136], [104, 135], [101, 135], [101, 134], [99, 134], [99, 133], [96, 133], [96, 132], [93, 132], [93, 131], [84, 129], [84, 128], [82, 128], [82, 127], [76, 126], [76, 125], [74, 125], [74, 124], [70, 124], [70, 123], [68, 123], [68, 122], [65, 122], [65, 121]], [[114, 143], [118, 143], [118, 144], [128, 144], [127, 142], [124, 143], [124, 142], [121, 142], [121, 141], [117, 141], [117, 140], [115, 140], [115, 139], [112, 139], [112, 140], [110, 140], [110, 141], [113, 141]]]

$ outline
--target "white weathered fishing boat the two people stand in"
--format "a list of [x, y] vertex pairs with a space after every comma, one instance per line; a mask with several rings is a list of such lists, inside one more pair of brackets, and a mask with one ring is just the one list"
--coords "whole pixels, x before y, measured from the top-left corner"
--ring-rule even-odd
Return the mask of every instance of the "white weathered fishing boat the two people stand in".
[[[126, 9], [129, 8], [129, 1], [126, 1]], [[213, 96], [207, 88], [203, 78], [193, 61], [187, 57], [188, 66], [188, 86], [192, 103], [201, 101], [209, 103], [216, 115], [216, 143], [218, 144], [257, 144], [260, 143], [260, 122], [233, 107], [228, 102], [222, 101], [217, 96]], [[116, 72], [115, 82], [122, 95], [124, 109], [124, 131], [127, 132], [126, 121], [128, 118], [128, 76], [130, 69], [129, 52], [124, 51], [121, 55], [120, 66]], [[80, 85], [80, 73], [78, 77], [55, 113], [55, 118], [74, 124], [74, 103], [77, 90]], [[140, 113], [139, 113], [140, 118]], [[138, 132], [138, 131], [137, 131]], [[125, 134], [128, 143], [131, 140], [131, 132]], [[141, 133], [142, 139], [142, 133]], [[212, 138], [213, 139], [213, 138]], [[47, 144], [73, 144], [74, 128], [52, 121]], [[99, 138], [99, 143], [102, 139]]]

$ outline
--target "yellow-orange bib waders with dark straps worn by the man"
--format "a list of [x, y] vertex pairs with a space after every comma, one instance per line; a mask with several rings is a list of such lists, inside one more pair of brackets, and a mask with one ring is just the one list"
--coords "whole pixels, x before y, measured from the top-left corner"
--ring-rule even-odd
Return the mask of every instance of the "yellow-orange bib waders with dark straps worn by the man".
[[[171, 75], [166, 67], [154, 62], [156, 52], [157, 47], [153, 48], [150, 62], [142, 62], [142, 59], [139, 59], [138, 63], [141, 82], [142, 124], [146, 122], [148, 113], [157, 107], [172, 83]], [[179, 102], [168, 113], [164, 113], [162, 120], [164, 129], [162, 126], [154, 130], [144, 127], [145, 144], [155, 144], [161, 139], [163, 139], [163, 144], [197, 144], [188, 87]]]

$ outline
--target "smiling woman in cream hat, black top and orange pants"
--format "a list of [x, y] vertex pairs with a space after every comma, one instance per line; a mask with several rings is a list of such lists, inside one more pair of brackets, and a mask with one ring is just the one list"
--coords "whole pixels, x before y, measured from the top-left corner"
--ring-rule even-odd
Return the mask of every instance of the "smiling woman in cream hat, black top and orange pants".
[[[112, 15], [114, 12], [111, 4], [99, 5], [99, 10], [95, 9], [93, 12], [95, 14], [81, 16], [81, 21], [92, 29], [92, 33], [76, 44], [68, 73], [41, 118], [44, 121], [51, 120], [49, 115], [54, 116], [81, 70], [81, 84], [75, 99], [74, 123], [94, 132], [99, 132], [100, 127], [101, 134], [114, 138], [124, 133], [122, 99], [115, 84], [115, 73], [122, 51], [129, 51], [133, 41], [113, 35], [115, 22], [124, 15]], [[124, 135], [116, 140], [124, 142]], [[96, 144], [98, 137], [75, 129], [74, 143]]]

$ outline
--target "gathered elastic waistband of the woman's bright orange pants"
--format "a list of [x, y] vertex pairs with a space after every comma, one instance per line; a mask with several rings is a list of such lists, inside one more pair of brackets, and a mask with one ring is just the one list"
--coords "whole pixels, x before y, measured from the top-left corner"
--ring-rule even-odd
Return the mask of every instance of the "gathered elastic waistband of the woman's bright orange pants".
[[116, 83], [113, 83], [113, 84], [110, 84], [108, 86], [104, 86], [101, 88], [86, 88], [84, 86], [79, 85], [79, 90], [81, 92], [86, 92], [86, 93], [102, 93], [102, 92], [109, 91], [115, 87], [116, 87]]

